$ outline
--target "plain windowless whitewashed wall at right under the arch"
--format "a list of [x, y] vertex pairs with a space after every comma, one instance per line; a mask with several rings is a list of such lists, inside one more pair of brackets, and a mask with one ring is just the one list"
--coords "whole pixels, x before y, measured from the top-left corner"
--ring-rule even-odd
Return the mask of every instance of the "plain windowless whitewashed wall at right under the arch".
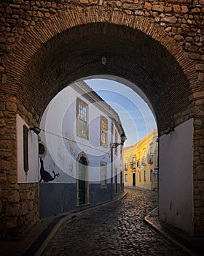
[[160, 137], [160, 218], [193, 233], [193, 119]]

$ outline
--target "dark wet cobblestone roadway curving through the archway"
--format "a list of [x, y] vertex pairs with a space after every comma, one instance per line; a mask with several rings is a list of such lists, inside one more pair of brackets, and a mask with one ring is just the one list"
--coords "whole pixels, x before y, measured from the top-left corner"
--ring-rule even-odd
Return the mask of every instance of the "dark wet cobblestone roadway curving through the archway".
[[155, 192], [127, 189], [121, 200], [64, 222], [42, 255], [187, 255], [144, 223], [156, 206]]

